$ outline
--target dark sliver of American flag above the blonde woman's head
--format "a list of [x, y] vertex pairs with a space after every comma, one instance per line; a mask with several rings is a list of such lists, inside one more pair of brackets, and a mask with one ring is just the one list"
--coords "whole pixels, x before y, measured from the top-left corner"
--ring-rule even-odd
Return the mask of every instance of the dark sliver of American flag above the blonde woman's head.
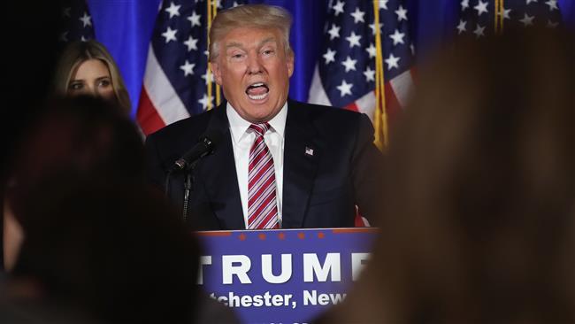
[[59, 42], [64, 46], [67, 42], [88, 41], [96, 38], [92, 16], [84, 0], [61, 1], [62, 30]]

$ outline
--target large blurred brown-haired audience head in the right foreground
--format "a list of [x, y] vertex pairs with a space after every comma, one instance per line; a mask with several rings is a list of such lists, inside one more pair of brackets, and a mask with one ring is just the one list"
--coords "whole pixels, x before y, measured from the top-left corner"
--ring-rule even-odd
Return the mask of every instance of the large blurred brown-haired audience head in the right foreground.
[[574, 58], [572, 35], [532, 30], [420, 71], [380, 241], [331, 320], [575, 321]]

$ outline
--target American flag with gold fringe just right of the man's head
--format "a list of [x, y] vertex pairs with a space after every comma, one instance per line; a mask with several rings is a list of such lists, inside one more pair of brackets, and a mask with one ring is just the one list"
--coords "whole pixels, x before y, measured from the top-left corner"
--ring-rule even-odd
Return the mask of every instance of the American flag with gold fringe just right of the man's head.
[[[332, 0], [328, 4], [325, 42], [315, 68], [309, 102], [364, 112], [376, 127], [405, 104], [413, 83], [414, 46], [410, 42], [408, 11], [402, 1], [379, 0], [379, 23], [374, 2]], [[377, 25], [377, 26], [376, 26]], [[380, 34], [378, 50], [376, 35]], [[385, 111], [376, 100], [376, 58], [383, 61]], [[377, 110], [380, 112], [377, 112]], [[385, 136], [385, 135], [384, 135]]]

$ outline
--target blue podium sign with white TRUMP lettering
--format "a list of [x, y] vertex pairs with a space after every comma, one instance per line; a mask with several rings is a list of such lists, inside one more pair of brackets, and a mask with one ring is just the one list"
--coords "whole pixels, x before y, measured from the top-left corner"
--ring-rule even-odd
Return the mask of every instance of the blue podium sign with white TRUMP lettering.
[[375, 228], [198, 232], [198, 283], [244, 323], [305, 323], [339, 304], [370, 257]]

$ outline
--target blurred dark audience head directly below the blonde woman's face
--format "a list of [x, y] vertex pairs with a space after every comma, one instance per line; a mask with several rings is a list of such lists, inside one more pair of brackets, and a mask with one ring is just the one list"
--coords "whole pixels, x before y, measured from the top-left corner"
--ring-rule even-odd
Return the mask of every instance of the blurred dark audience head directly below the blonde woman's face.
[[17, 150], [6, 190], [7, 270], [26, 234], [24, 210], [45, 179], [120, 181], [134, 187], [145, 183], [142, 139], [115, 104], [90, 96], [54, 99], [32, 125]]

